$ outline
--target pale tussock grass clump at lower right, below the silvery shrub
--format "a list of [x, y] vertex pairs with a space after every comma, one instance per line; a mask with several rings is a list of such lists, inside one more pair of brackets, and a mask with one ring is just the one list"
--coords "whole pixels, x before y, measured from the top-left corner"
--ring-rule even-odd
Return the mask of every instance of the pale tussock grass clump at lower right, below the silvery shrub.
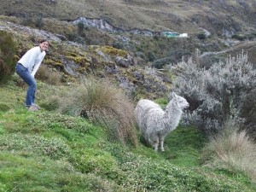
[[256, 181], [256, 145], [236, 126], [226, 125], [203, 148], [203, 159], [208, 166], [230, 172], [242, 172]]

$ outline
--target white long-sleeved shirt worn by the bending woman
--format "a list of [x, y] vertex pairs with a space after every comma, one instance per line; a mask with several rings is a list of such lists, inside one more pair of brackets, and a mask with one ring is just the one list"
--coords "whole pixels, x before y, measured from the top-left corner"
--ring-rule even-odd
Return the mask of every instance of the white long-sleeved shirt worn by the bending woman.
[[45, 51], [41, 52], [39, 46], [34, 47], [32, 49], [29, 49], [26, 52], [26, 54], [20, 58], [18, 62], [22, 64], [24, 67], [26, 67], [29, 73], [32, 74], [32, 77], [34, 77], [38, 71], [38, 68], [41, 65], [41, 62], [44, 60], [45, 55]]

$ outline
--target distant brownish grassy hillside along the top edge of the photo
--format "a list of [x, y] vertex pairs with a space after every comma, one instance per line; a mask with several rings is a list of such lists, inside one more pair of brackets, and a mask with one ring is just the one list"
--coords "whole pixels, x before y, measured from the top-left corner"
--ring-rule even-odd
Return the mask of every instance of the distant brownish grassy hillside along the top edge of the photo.
[[174, 0], [0, 0], [0, 14], [18, 17], [79, 16], [107, 20], [126, 30], [172, 30], [195, 34], [206, 29], [219, 36], [255, 32], [256, 2]]

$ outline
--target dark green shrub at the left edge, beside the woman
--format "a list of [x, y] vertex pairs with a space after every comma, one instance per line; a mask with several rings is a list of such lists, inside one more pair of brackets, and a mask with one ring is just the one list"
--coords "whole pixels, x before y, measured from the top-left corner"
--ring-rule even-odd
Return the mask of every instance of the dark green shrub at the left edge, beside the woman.
[[0, 83], [6, 82], [15, 73], [15, 51], [12, 35], [0, 31]]

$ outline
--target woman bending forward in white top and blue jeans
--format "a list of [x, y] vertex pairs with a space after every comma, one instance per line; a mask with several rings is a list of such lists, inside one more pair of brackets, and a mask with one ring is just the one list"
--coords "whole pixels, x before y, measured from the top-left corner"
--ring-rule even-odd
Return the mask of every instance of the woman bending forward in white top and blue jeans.
[[16, 73], [28, 84], [26, 92], [26, 108], [30, 111], [38, 111], [40, 108], [35, 104], [37, 83], [35, 74], [44, 60], [45, 50], [49, 47], [49, 42], [45, 39], [39, 41], [39, 46], [29, 49], [16, 65]]

